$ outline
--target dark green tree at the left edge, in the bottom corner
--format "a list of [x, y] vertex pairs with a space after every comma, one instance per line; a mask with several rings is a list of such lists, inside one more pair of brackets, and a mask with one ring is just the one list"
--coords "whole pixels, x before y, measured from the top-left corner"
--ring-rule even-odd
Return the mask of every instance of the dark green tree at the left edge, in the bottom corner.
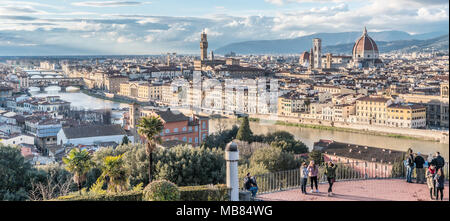
[[26, 200], [33, 173], [18, 148], [0, 144], [0, 200]]

